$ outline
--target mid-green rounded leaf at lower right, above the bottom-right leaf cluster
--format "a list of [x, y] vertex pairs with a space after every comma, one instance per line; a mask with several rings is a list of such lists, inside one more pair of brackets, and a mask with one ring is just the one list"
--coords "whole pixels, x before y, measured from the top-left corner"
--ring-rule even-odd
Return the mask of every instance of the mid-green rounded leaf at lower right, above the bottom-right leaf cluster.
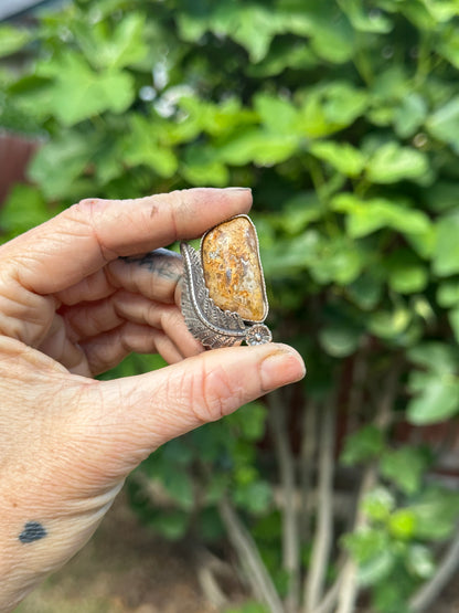
[[381, 457], [380, 469], [384, 478], [395, 484], [404, 494], [419, 492], [423, 477], [431, 463], [425, 448], [404, 446], [387, 450]]

